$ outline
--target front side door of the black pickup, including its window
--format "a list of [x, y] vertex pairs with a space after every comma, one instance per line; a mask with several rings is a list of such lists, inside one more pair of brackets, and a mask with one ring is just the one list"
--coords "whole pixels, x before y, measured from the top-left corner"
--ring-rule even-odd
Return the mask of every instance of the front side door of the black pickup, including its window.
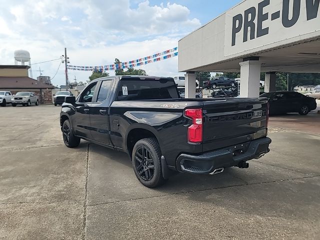
[[74, 133], [77, 136], [92, 139], [90, 132], [90, 107], [96, 95], [97, 82], [88, 85], [75, 102], [75, 116], [72, 117]]

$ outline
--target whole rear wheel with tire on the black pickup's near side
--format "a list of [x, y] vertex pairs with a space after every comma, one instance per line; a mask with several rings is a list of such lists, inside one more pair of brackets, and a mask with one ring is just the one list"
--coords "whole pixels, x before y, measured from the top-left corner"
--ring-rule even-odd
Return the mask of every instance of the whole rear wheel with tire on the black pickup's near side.
[[138, 140], [132, 150], [132, 166], [136, 178], [146, 187], [157, 187], [166, 180], [162, 177], [161, 151], [153, 137]]

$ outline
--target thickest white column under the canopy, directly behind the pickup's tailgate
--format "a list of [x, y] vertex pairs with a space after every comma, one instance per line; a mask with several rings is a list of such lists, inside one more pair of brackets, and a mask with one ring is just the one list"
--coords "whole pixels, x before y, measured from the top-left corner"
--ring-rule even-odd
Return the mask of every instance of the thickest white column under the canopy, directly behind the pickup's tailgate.
[[242, 61], [240, 65], [240, 97], [257, 97], [260, 88], [261, 63]]

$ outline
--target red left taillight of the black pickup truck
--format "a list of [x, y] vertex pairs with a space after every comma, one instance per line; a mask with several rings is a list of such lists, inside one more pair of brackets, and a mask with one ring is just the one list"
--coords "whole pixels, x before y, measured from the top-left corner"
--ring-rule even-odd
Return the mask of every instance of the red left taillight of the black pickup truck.
[[202, 142], [202, 109], [185, 109], [185, 116], [192, 119], [188, 127], [188, 141]]

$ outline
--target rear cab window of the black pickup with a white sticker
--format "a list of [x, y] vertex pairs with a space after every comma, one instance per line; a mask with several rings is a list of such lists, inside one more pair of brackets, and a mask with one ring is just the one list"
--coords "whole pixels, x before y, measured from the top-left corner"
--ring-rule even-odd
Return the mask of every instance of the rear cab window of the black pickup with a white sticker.
[[119, 82], [117, 100], [150, 100], [179, 98], [172, 79], [122, 78]]

